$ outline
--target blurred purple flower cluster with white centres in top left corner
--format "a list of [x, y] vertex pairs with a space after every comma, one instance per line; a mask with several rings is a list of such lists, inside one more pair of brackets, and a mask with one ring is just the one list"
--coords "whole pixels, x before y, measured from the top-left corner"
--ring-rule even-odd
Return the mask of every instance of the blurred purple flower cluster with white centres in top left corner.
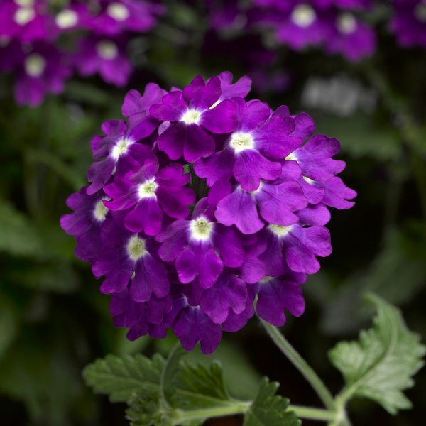
[[[71, 0], [59, 10], [45, 0], [0, 0], [0, 72], [16, 72], [16, 102], [31, 107], [62, 92], [74, 69], [123, 87], [133, 71], [129, 35], [146, 33], [163, 13], [163, 5], [146, 0]], [[77, 35], [82, 30], [89, 34]], [[70, 32], [75, 51], [57, 48], [58, 37]]]

